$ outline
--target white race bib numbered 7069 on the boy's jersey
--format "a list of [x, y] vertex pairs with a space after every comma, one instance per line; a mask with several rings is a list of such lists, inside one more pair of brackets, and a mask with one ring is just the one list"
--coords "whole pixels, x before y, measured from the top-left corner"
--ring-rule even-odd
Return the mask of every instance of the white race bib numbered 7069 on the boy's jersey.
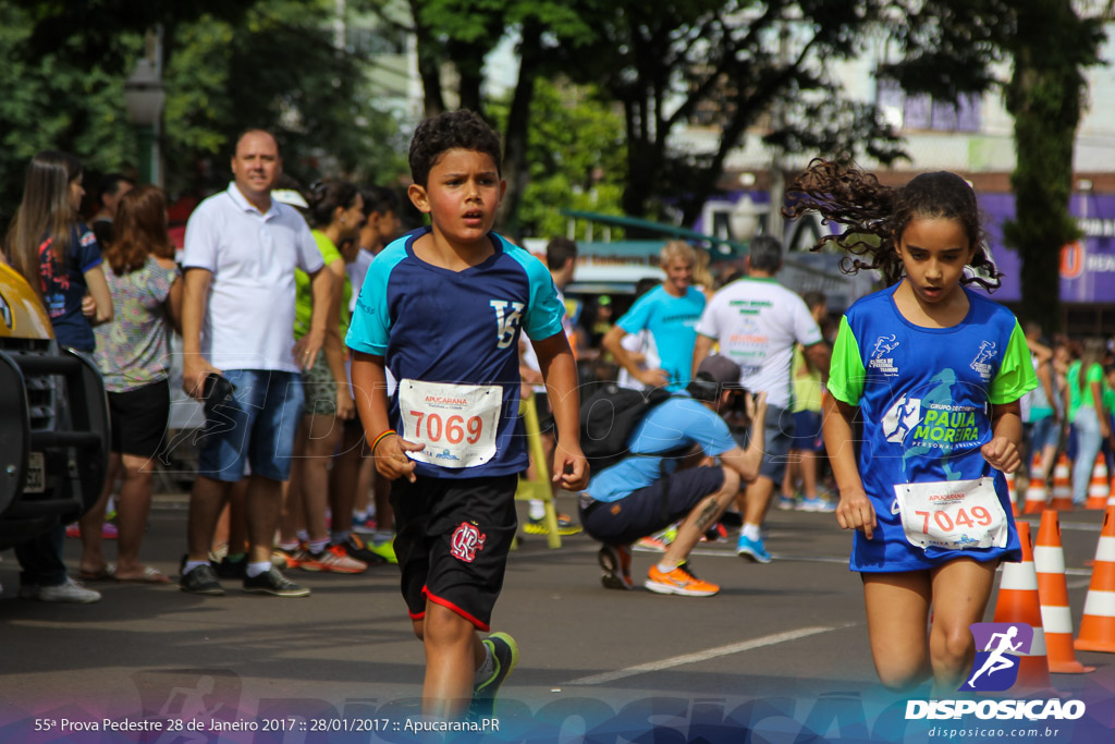
[[442, 467], [475, 467], [495, 456], [495, 434], [503, 406], [498, 385], [453, 385], [404, 379], [399, 414], [408, 442], [421, 443], [413, 460]]

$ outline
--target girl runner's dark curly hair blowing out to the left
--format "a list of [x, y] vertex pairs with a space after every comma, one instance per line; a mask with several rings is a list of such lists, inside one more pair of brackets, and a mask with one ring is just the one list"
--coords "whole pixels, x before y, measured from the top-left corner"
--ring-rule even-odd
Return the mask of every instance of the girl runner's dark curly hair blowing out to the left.
[[976, 276], [960, 282], [988, 290], [999, 287], [1002, 272], [988, 255], [976, 192], [956, 173], [922, 173], [904, 186], [891, 187], [847, 161], [816, 158], [794, 178], [786, 196], [789, 204], [782, 210], [784, 216], [795, 219], [815, 211], [825, 224], [844, 226], [843, 232], [822, 238], [813, 250], [835, 243], [849, 253], [841, 264], [846, 273], [879, 269], [888, 287], [896, 284], [904, 276], [896, 245], [906, 225], [914, 218], [947, 218], [960, 223], [968, 244], [976, 249], [969, 262]]

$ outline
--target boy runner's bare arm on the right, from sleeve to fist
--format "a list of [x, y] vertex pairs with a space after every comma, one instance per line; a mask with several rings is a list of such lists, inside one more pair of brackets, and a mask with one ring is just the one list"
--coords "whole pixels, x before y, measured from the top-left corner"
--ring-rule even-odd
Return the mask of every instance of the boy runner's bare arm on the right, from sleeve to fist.
[[[617, 326], [619, 328], [619, 326]], [[553, 480], [566, 491], [589, 485], [589, 461], [581, 452], [581, 396], [576, 386], [576, 361], [564, 331], [532, 341], [539, 357], [546, 395], [554, 412], [558, 444], [554, 446]]]

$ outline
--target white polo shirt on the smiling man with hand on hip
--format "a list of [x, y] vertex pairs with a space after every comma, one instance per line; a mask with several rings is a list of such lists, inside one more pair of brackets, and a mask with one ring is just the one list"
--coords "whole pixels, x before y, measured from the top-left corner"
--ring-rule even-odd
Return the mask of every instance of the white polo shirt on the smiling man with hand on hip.
[[213, 272], [201, 338], [210, 364], [299, 370], [291, 352], [294, 269], [324, 265], [301, 214], [275, 201], [261, 213], [230, 183], [190, 215], [182, 263]]

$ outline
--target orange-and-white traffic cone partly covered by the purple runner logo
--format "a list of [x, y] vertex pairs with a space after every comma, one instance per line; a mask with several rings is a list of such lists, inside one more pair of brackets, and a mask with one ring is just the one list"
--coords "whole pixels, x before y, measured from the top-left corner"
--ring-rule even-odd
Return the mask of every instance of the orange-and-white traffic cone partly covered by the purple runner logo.
[[1048, 689], [1049, 659], [1046, 656], [1045, 630], [1041, 625], [1041, 601], [1038, 599], [1038, 576], [1034, 567], [1030, 525], [1018, 522], [1018, 541], [1022, 545], [1021, 563], [1004, 563], [999, 597], [995, 603], [995, 622], [1025, 622], [1034, 628], [1030, 653], [1019, 655], [1020, 687]]

